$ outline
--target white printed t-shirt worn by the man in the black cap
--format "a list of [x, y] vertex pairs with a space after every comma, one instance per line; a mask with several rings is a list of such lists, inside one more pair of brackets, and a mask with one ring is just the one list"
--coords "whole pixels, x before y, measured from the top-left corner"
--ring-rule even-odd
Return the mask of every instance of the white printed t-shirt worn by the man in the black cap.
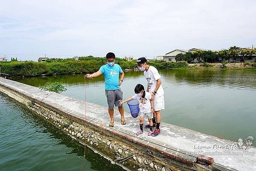
[[[159, 78], [161, 78], [161, 76], [159, 75], [157, 69], [155, 67], [150, 66], [148, 68], [148, 71], [144, 71], [144, 76], [146, 78], [146, 80], [148, 81], [148, 90], [149, 93], [152, 93], [156, 87], [157, 87], [157, 80]], [[162, 84], [160, 85], [160, 87], [157, 90], [157, 93], [155, 95], [155, 97], [159, 97], [162, 96], [164, 94], [163, 92], [163, 87]]]

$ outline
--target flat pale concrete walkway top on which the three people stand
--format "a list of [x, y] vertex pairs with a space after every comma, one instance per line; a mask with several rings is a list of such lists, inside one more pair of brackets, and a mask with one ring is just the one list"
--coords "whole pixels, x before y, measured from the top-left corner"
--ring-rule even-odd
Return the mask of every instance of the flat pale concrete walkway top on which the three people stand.
[[[32, 87], [5, 78], [0, 78], [0, 85], [22, 93], [29, 98], [43, 101], [52, 107], [76, 116], [78, 119], [84, 120], [85, 118], [85, 101], [58, 93], [41, 91], [38, 87]], [[218, 165], [227, 170], [256, 171], [256, 148], [254, 147], [246, 150], [234, 149], [237, 145], [236, 142], [164, 122], [161, 122], [161, 134], [159, 136], [148, 136], [147, 129], [145, 129], [143, 135], [137, 136], [139, 118], [134, 119], [131, 117], [131, 114], [125, 113], [127, 124], [121, 125], [120, 114], [115, 110], [115, 126], [110, 128], [108, 127], [110, 121], [108, 109], [90, 102], [86, 103], [86, 117], [87, 122], [98, 125], [102, 129], [115, 132], [122, 137], [127, 137], [133, 142], [145, 145], [151, 149], [158, 149], [163, 154], [183, 162], [184, 160], [188, 163], [195, 162], [198, 155], [204, 153], [202, 155], [214, 159], [213, 165]]]

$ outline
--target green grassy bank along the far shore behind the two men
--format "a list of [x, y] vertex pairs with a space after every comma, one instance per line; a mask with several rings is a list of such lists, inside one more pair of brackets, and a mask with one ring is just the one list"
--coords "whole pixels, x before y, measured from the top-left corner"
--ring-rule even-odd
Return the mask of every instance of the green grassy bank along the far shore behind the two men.
[[[92, 73], [99, 70], [99, 68], [106, 64], [105, 58], [94, 57], [80, 57], [80, 61], [74, 59], [70, 60], [48, 60], [46, 62], [33, 61], [11, 61], [1, 62], [1, 72], [11, 76], [39, 76], [39, 75], [64, 75], [74, 73]], [[136, 61], [126, 61], [116, 58], [116, 64], [119, 64], [123, 70], [137, 68]], [[186, 68], [187, 62], [164, 62], [164, 61], [150, 61], [150, 65], [157, 69], [163, 68]]]

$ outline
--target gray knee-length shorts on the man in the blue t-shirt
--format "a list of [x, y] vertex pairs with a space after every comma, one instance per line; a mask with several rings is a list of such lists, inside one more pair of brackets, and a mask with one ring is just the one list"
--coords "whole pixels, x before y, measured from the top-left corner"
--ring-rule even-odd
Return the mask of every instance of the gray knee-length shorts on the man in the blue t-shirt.
[[114, 105], [121, 107], [122, 104], [119, 104], [119, 100], [122, 100], [122, 90], [105, 90], [105, 94], [107, 96], [108, 108], [114, 109]]

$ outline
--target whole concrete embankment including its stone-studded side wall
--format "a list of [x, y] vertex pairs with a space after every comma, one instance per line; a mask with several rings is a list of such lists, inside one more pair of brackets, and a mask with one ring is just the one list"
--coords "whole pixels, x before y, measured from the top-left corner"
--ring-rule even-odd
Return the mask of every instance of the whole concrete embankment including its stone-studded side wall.
[[236, 142], [166, 123], [161, 123], [157, 137], [136, 136], [138, 118], [128, 113], [127, 124], [121, 125], [115, 112], [115, 126], [110, 128], [106, 107], [5, 78], [0, 78], [0, 92], [131, 171], [256, 170], [254, 147], [236, 149]]

